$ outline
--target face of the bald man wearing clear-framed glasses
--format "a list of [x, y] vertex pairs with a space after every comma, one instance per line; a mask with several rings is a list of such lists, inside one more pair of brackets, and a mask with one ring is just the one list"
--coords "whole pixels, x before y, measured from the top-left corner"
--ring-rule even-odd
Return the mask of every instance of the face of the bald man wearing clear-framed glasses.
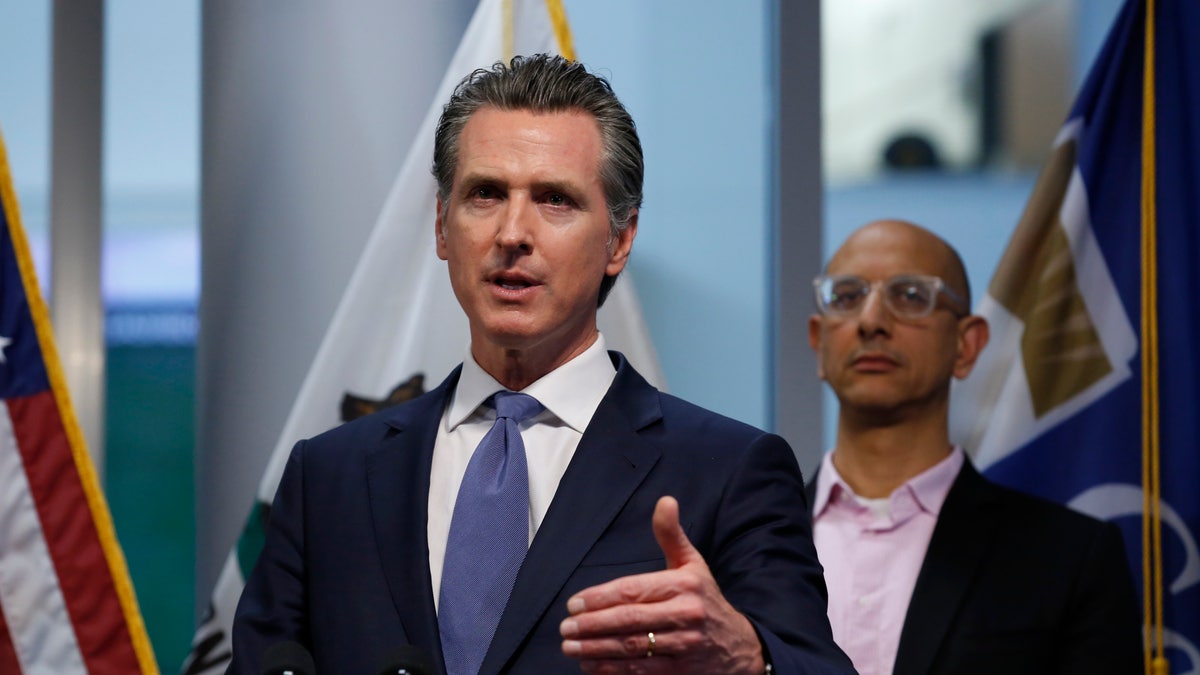
[[[949, 251], [931, 234], [905, 223], [872, 223], [856, 232], [834, 255], [829, 275], [853, 274], [869, 282], [901, 274], [952, 281]], [[881, 422], [895, 416], [944, 413], [952, 377], [965, 377], [983, 344], [964, 339], [980, 319], [956, 318], [946, 298], [929, 316], [901, 319], [883, 304], [882, 289], [854, 316], [809, 319], [809, 341], [818, 375], [838, 395], [844, 412], [865, 412]], [[984, 324], [983, 341], [986, 341]]]

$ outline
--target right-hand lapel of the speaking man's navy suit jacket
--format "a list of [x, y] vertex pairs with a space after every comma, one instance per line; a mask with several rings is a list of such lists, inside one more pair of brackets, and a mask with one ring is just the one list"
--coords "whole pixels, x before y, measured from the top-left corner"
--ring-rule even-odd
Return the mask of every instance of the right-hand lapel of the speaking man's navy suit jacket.
[[658, 392], [624, 357], [614, 358], [617, 378], [558, 484], [480, 673], [499, 673], [512, 658], [583, 556], [659, 460], [658, 448], [637, 435], [662, 417]]

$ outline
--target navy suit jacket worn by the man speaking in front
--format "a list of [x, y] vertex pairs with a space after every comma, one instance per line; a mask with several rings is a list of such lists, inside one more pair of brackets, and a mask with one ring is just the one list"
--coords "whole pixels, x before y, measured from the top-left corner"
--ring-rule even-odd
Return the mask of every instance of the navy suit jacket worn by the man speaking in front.
[[[649, 386], [612, 352], [617, 376], [529, 546], [480, 673], [571, 673], [558, 625], [574, 593], [665, 568], [650, 520], [660, 496], [776, 673], [850, 673], [826, 615], [803, 479], [779, 436]], [[257, 675], [296, 640], [318, 673], [377, 673], [412, 644], [444, 668], [426, 519], [437, 425], [457, 382], [301, 441], [238, 605], [229, 673]]]

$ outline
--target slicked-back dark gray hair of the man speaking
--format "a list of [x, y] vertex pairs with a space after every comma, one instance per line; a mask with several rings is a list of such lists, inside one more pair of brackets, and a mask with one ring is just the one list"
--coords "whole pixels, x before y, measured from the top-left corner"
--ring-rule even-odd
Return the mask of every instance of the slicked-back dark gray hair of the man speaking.
[[[602, 156], [600, 180], [608, 208], [608, 227], [616, 238], [629, 227], [642, 205], [642, 143], [625, 106], [617, 100], [605, 78], [589, 73], [583, 64], [552, 54], [515, 56], [505, 65], [479, 68], [455, 88], [442, 109], [433, 141], [433, 177], [443, 208], [450, 202], [458, 165], [458, 138], [476, 110], [492, 106], [502, 110], [556, 113], [581, 110], [596, 120]], [[599, 304], [616, 283], [605, 276], [600, 283]]]

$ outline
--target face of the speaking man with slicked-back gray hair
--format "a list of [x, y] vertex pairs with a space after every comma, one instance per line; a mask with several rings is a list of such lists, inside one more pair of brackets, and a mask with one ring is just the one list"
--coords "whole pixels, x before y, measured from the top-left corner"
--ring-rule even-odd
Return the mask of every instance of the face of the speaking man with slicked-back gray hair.
[[563, 363], [594, 340], [600, 281], [625, 267], [637, 229], [635, 215], [610, 235], [600, 160], [599, 127], [582, 112], [485, 107], [467, 121], [437, 250], [476, 359], [538, 350]]

